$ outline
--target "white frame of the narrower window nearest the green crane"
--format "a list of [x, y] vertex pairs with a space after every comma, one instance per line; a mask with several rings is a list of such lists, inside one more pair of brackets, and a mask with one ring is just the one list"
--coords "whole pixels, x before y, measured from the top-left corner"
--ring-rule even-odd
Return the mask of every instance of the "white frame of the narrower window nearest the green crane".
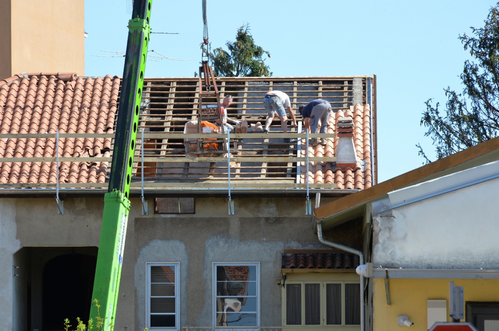
[[[151, 328], [151, 267], [170, 266], [175, 267], [175, 327], [171, 328]], [[149, 330], [180, 330], [180, 262], [146, 262], [146, 327]]]

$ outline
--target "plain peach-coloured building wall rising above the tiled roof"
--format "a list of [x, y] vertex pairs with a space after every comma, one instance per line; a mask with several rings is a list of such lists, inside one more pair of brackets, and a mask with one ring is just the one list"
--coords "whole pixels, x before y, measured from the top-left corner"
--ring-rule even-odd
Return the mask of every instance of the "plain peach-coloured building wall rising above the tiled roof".
[[[0, 79], [22, 72], [85, 74], [84, 0], [0, 0], [7, 36]], [[10, 14], [8, 14], [10, 13]]]

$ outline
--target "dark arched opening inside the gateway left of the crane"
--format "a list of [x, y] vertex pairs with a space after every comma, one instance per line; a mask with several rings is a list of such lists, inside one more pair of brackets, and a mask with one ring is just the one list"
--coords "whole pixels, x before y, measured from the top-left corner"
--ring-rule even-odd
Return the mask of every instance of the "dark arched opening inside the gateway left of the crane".
[[54, 257], [43, 268], [42, 319], [44, 331], [63, 330], [64, 319], [76, 327], [90, 314], [97, 257], [66, 254]]

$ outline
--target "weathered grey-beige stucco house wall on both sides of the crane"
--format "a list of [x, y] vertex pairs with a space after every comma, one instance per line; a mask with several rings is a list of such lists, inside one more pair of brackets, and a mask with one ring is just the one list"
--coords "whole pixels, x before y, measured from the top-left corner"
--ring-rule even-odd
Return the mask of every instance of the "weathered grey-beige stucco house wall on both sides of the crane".
[[[317, 241], [303, 198], [238, 197], [236, 215], [230, 217], [226, 198], [196, 199], [194, 215], [155, 215], [154, 199], [149, 199], [149, 215], [142, 216], [140, 200], [131, 202], [116, 330], [145, 326], [145, 263], [151, 261], [180, 262], [182, 326], [212, 325], [212, 262], [260, 262], [260, 324], [280, 325], [277, 279], [283, 250], [329, 248]], [[60, 216], [53, 198], [0, 199], [0, 300], [7, 303], [0, 310], [0, 330], [13, 328], [12, 265], [29, 262], [18, 254], [22, 261], [14, 263], [14, 253], [22, 247], [98, 246], [103, 206], [102, 198], [66, 198]], [[325, 235], [354, 243], [355, 230], [345, 226]], [[32, 328], [38, 328], [41, 278], [34, 274], [41, 272], [43, 261], [31, 259]]]

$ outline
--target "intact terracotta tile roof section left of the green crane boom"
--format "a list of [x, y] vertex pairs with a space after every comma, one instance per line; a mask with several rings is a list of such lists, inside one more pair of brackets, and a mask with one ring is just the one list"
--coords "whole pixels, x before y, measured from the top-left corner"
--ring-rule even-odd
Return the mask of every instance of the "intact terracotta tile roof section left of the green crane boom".
[[[0, 133], [113, 133], [118, 77], [33, 73], [0, 81]], [[62, 157], [109, 156], [110, 138], [59, 138]], [[0, 139], [0, 157], [54, 157], [55, 138]], [[61, 183], [103, 183], [107, 162], [61, 162]], [[0, 183], [55, 183], [55, 162], [0, 163]]]

